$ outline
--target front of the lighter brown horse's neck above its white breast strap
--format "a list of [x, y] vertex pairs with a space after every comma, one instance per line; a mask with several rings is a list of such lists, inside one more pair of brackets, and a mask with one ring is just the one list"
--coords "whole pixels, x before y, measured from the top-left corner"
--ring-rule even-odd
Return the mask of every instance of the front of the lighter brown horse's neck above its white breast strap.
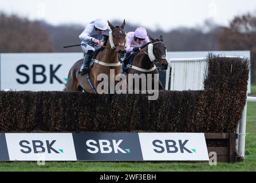
[[109, 43], [109, 39], [107, 41], [106, 48], [101, 51], [100, 55], [98, 55], [100, 61], [106, 62], [106, 63], [116, 63], [119, 62], [118, 59], [118, 53], [111, 49], [111, 45]]

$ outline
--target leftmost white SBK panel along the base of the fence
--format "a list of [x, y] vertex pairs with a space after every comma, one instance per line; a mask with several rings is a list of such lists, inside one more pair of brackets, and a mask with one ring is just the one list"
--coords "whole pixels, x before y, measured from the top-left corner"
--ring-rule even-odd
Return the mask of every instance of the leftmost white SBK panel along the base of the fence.
[[72, 133], [6, 133], [10, 161], [76, 161]]

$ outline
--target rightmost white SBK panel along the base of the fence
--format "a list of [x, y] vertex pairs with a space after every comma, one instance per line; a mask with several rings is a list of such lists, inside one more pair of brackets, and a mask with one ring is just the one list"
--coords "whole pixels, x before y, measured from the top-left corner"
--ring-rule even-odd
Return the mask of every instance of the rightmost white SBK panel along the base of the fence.
[[208, 161], [204, 133], [139, 133], [144, 161]]

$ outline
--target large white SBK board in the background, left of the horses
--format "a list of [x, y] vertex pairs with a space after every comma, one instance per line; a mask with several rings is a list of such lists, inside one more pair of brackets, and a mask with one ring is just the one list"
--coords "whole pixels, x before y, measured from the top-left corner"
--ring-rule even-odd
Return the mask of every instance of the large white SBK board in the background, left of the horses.
[[1, 54], [1, 90], [62, 91], [82, 53]]

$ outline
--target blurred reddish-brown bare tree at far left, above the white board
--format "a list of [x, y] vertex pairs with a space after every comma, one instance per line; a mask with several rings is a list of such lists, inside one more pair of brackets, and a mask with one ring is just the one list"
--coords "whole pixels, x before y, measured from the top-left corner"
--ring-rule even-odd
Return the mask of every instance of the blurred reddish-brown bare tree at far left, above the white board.
[[16, 15], [0, 14], [0, 53], [52, 52], [49, 34], [40, 22], [31, 22]]

